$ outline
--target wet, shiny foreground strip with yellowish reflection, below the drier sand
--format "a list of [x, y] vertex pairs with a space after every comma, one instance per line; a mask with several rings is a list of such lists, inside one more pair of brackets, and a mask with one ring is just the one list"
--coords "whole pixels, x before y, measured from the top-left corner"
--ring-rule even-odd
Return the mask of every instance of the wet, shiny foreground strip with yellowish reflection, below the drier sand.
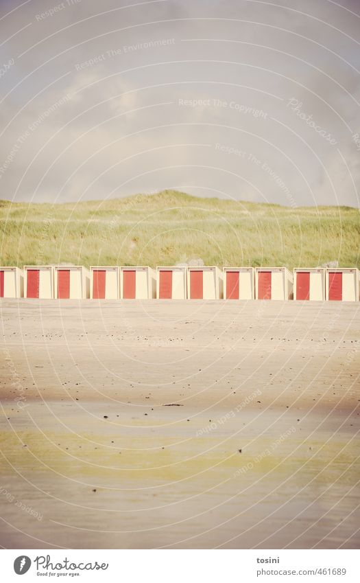
[[5, 405], [0, 544], [359, 547], [357, 414], [226, 413]]

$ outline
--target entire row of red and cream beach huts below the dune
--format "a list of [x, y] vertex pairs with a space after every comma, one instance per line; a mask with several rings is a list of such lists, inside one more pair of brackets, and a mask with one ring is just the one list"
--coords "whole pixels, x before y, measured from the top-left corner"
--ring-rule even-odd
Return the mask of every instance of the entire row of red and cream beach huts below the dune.
[[357, 268], [0, 267], [0, 297], [359, 301]]

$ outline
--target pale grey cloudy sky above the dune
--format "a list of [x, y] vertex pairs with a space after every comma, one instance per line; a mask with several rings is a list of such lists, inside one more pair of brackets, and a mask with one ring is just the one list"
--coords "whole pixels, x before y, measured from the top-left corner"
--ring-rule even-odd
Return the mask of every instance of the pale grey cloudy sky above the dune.
[[0, 198], [359, 207], [359, 0], [0, 0]]

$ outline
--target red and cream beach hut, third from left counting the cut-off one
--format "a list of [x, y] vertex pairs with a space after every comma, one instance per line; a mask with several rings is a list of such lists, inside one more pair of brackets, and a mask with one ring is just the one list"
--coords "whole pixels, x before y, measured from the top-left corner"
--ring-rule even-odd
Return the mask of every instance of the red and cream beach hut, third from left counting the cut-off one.
[[90, 272], [82, 265], [57, 265], [53, 280], [56, 299], [90, 297]]

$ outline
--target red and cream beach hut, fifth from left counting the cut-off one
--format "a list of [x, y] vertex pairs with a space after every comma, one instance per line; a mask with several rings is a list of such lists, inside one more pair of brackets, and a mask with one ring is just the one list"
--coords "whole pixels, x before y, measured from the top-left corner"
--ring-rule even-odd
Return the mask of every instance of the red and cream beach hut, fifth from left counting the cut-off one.
[[121, 299], [152, 299], [156, 297], [156, 275], [151, 267], [120, 268]]

